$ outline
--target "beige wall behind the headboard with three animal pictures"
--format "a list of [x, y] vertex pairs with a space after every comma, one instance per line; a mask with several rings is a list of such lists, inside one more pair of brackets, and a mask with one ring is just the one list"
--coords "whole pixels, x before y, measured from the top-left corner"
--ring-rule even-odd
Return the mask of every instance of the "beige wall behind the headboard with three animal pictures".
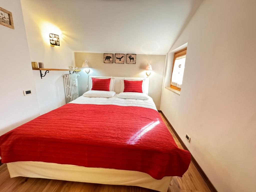
[[[113, 54], [115, 57], [115, 54]], [[125, 55], [126, 57], [126, 55]], [[126, 59], [124, 64], [120, 63], [104, 63], [102, 53], [75, 53], [76, 66], [81, 69], [78, 73], [78, 89], [81, 96], [86, 92], [88, 75], [82, 67], [84, 60], [88, 61], [90, 67], [90, 76], [112, 76], [112, 77], [147, 77], [146, 65], [149, 62], [152, 65], [153, 71], [151, 72], [149, 81], [148, 95], [153, 98], [156, 108], [160, 109], [162, 84], [164, 75], [166, 55], [136, 55], [136, 64], [127, 64]]]

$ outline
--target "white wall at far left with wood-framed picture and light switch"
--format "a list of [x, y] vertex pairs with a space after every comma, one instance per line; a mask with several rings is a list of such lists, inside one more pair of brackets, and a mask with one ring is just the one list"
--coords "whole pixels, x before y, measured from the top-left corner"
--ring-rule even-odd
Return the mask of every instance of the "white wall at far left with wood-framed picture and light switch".
[[[19, 0], [1, 1], [12, 12], [14, 28], [0, 25], [0, 135], [39, 115], [27, 37]], [[32, 95], [23, 90], [32, 89]]]

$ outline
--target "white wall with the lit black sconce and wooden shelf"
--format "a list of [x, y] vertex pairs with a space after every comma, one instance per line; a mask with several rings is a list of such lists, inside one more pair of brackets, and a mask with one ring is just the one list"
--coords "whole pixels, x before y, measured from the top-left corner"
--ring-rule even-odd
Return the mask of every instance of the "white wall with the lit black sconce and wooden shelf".
[[[74, 52], [66, 43], [65, 28], [55, 26], [50, 15], [49, 18], [40, 17], [40, 10], [35, 9], [30, 1], [22, 0], [22, 9], [30, 60], [44, 62], [45, 68], [68, 69], [68, 66], [74, 66]], [[50, 46], [49, 33], [60, 35], [60, 46]], [[40, 114], [66, 104], [62, 79], [65, 73], [69, 71], [50, 71], [41, 79], [40, 72], [33, 71]]]

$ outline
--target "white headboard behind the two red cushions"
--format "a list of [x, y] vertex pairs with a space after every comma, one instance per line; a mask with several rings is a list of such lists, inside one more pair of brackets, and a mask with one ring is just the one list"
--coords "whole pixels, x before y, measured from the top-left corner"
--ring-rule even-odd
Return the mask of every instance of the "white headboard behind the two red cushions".
[[89, 76], [89, 84], [88, 84], [88, 90], [91, 90], [92, 88], [92, 77], [94, 78], [112, 78], [114, 79], [114, 91], [116, 93], [120, 93], [123, 91], [123, 87], [122, 87], [122, 84], [123, 84], [123, 80], [124, 79], [132, 79], [132, 80], [144, 80], [143, 82], [143, 87], [144, 87], [144, 90], [143, 90], [143, 93], [146, 93], [148, 95], [148, 88], [149, 88], [149, 78], [141, 78], [141, 77], [102, 77], [102, 76]]

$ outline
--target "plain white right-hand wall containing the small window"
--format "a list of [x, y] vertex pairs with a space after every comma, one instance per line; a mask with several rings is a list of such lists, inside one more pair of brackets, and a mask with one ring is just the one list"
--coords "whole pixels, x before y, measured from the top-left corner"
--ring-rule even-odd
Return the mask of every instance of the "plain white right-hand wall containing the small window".
[[202, 2], [171, 48], [188, 42], [180, 96], [163, 89], [163, 113], [219, 192], [256, 188], [255, 7]]

